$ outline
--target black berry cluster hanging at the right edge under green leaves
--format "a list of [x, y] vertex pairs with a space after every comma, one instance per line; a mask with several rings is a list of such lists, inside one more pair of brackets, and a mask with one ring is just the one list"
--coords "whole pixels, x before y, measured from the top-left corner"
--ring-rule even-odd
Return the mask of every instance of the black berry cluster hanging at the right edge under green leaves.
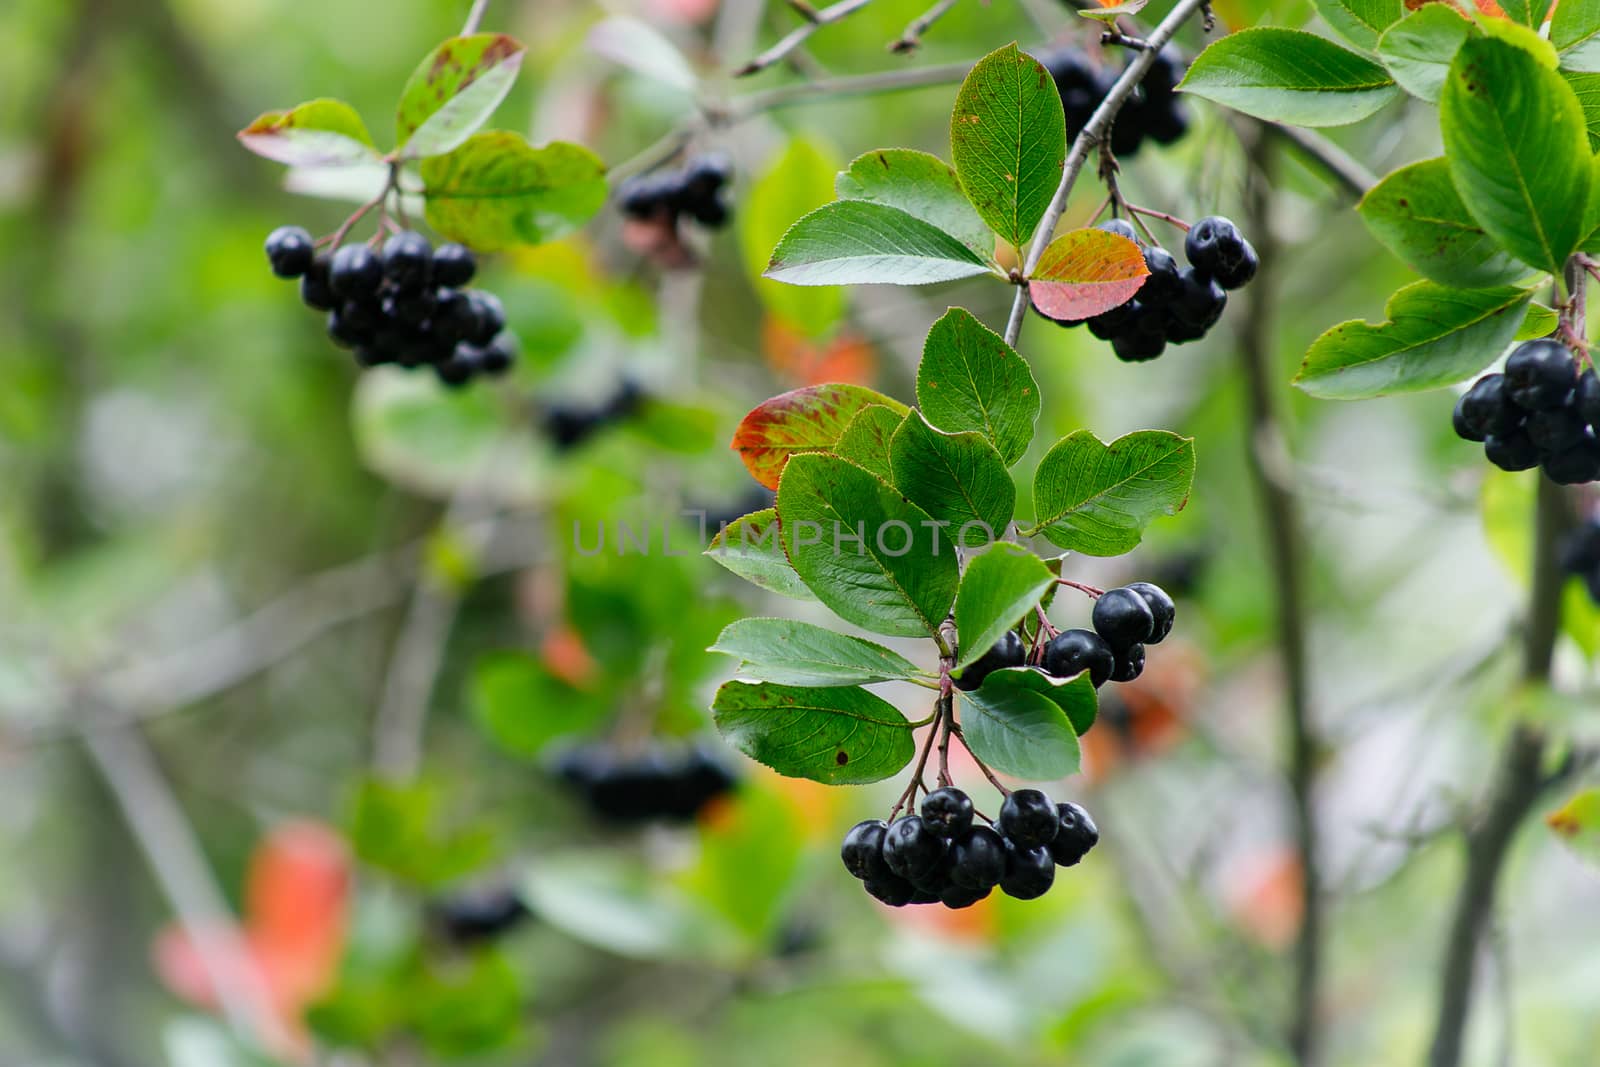
[[1461, 394], [1453, 416], [1462, 440], [1483, 442], [1501, 470], [1541, 467], [1560, 485], [1600, 480], [1600, 379], [1560, 341], [1528, 341]]

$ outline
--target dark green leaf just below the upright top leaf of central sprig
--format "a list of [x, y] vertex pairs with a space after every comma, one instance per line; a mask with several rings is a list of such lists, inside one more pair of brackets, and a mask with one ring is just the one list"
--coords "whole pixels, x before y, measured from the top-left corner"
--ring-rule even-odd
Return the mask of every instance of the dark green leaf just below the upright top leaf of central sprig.
[[922, 414], [910, 416], [890, 443], [890, 467], [894, 488], [946, 525], [962, 545], [990, 544], [1011, 523], [1016, 485], [981, 434], [946, 434]]

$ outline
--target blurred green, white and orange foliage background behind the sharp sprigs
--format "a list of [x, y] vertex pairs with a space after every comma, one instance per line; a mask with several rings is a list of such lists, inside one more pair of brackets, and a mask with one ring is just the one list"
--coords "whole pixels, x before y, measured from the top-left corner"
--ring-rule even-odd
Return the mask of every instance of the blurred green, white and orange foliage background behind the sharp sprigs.
[[[0, 1064], [1288, 1062], [1302, 872], [1246, 466], [1246, 310], [1152, 365], [1024, 326], [1037, 440], [1165, 427], [1200, 458], [1178, 520], [1078, 574], [1168, 584], [1182, 641], [1085, 739], [1086, 774], [1051, 787], [1102, 830], [1054, 893], [877, 907], [835, 848], [886, 809], [890, 784], [827, 790], [742, 763], [739, 789], [693, 824], [606, 825], [552, 774], [552, 752], [704, 741], [728, 667], [702, 649], [723, 624], [830, 622], [688, 552], [701, 531], [680, 512], [715, 528], [762, 506], [726, 448], [738, 418], [837, 378], [909, 398], [942, 309], [998, 325], [1010, 293], [755, 278], [854, 155], [949, 152], [954, 80], [819, 96], [696, 133], [694, 150], [736, 165], [730, 229], [688, 235], [698, 266], [629, 251], [614, 211], [496, 258], [485, 285], [525, 354], [509, 382], [448, 394], [358, 374], [261, 254], [274, 226], [328, 232], [344, 206], [283, 192], [232, 134], [267, 107], [339, 96], [382, 138], [405, 75], [466, 6], [0, 5]], [[994, 0], [955, 5], [918, 53], [888, 54], [923, 6], [880, 0], [818, 32], [802, 70], [736, 83], [720, 72], [795, 24], [786, 5], [498, 0], [486, 26], [530, 48], [498, 123], [627, 166], [690, 120], [693, 94], [586, 48], [616, 13], [690, 58], [712, 112], [1010, 40], [1098, 48], [1054, 0]], [[1314, 21], [1299, 0], [1214, 8], [1222, 29]], [[1198, 50], [1198, 27], [1181, 43]], [[1123, 189], [1182, 218], [1242, 218], [1237, 131], [1195, 114], [1182, 142], [1125, 162]], [[1437, 154], [1434, 130], [1398, 104], [1334, 133], [1382, 173]], [[1558, 669], [1582, 696], [1520, 689], [1526, 475], [1485, 480], [1443, 395], [1341, 406], [1288, 389], [1317, 333], [1376, 318], [1406, 272], [1320, 173], [1253, 150], [1277, 163], [1258, 224], [1282, 253], [1258, 314], [1285, 414], [1272, 474], [1304, 510], [1328, 1061], [1416, 1062], [1459, 877], [1451, 827], [1514, 713], [1592, 713], [1597, 630], [1574, 592]], [[1091, 218], [1091, 186], [1069, 221]], [[565, 451], [538, 432], [552, 406], [626, 381], [650, 397], [635, 418]], [[618, 522], [653, 530], [656, 550], [574, 550], [574, 526], [592, 539]], [[682, 555], [661, 550], [664, 528]], [[893, 696], [910, 710], [907, 689]], [[429, 712], [421, 774], [374, 776], [374, 750], [397, 744], [403, 765], [418, 744], [381, 736], [408, 709]], [[157, 816], [130, 809], [141, 798]], [[210, 1011], [170, 928], [182, 875], [157, 877], [142, 849], [163, 840], [149, 821], [171, 798], [272, 982], [288, 1033], [267, 1051]], [[485, 888], [512, 889], [531, 918], [498, 941], [442, 937], [429, 905]], [[1600, 883], [1534, 827], [1506, 888], [1474, 1062], [1507, 1062], [1494, 1049], [1512, 1033], [1518, 1064], [1594, 1062]]]

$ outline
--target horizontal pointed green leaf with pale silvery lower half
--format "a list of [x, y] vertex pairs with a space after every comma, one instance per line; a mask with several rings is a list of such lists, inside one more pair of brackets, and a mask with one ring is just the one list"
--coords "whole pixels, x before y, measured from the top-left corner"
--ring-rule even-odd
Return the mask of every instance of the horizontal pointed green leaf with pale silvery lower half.
[[989, 272], [944, 230], [867, 200], [835, 200], [802, 218], [766, 264], [768, 278], [789, 285], [930, 285]]

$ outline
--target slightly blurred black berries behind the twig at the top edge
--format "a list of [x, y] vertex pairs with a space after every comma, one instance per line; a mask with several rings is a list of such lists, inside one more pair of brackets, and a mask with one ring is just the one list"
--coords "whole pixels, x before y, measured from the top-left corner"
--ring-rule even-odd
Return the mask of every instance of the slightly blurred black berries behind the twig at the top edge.
[[[1072, 141], [1088, 125], [1094, 109], [1106, 99], [1106, 93], [1122, 72], [1096, 67], [1077, 48], [1059, 48], [1038, 59], [1061, 93], [1061, 107], [1067, 114], [1067, 141]], [[1182, 56], [1171, 45], [1157, 53], [1139, 88], [1117, 112], [1117, 122], [1110, 130], [1114, 155], [1133, 155], [1146, 138], [1157, 144], [1171, 144], [1189, 131], [1189, 110], [1173, 91], [1184, 80], [1184, 70]]]

